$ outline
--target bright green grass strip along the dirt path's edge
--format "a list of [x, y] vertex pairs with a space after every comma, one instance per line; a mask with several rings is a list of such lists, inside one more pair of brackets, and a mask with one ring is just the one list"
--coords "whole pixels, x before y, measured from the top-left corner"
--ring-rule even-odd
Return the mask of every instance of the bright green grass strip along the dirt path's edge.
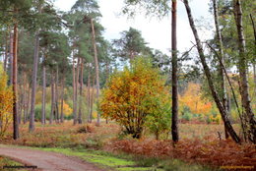
[[88, 162], [96, 164], [106, 170], [117, 171], [212, 171], [213, 168], [187, 164], [178, 159], [160, 159], [136, 156], [131, 154], [113, 154], [93, 149], [71, 148], [41, 148], [32, 147], [44, 151], [59, 152], [68, 156], [77, 156]]

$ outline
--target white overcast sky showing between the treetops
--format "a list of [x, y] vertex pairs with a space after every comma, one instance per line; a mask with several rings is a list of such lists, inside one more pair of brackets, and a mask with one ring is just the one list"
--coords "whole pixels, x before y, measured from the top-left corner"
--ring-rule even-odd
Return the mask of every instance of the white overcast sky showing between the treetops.
[[[69, 11], [76, 0], [56, 0], [55, 6], [62, 11]], [[149, 46], [167, 53], [171, 47], [171, 20], [170, 16], [165, 17], [161, 21], [158, 19], [145, 18], [138, 15], [134, 19], [127, 20], [127, 16], [120, 16], [123, 0], [98, 0], [100, 12], [102, 14], [101, 25], [105, 28], [104, 36], [111, 40], [120, 37], [120, 32], [130, 27], [141, 30], [143, 37], [149, 43]], [[202, 17], [213, 23], [213, 17], [208, 12], [210, 0], [191, 0], [191, 8], [194, 18], [200, 20]], [[187, 20], [184, 4], [178, 1], [178, 22], [177, 22], [177, 38], [178, 49], [184, 51], [192, 46], [194, 41], [191, 28]], [[201, 38], [208, 38], [212, 35], [209, 24], [204, 26], [199, 33]]]

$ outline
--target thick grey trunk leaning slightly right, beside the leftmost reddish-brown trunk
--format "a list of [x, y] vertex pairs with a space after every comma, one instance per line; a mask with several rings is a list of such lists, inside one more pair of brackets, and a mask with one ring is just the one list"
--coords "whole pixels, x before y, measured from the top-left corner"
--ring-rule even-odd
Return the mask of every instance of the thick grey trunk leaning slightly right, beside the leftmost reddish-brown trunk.
[[35, 105], [35, 92], [37, 82], [37, 68], [38, 68], [38, 51], [39, 51], [39, 31], [36, 30], [34, 41], [34, 53], [33, 53], [33, 68], [32, 68], [32, 103], [31, 103], [31, 115], [29, 131], [34, 131], [34, 105]]

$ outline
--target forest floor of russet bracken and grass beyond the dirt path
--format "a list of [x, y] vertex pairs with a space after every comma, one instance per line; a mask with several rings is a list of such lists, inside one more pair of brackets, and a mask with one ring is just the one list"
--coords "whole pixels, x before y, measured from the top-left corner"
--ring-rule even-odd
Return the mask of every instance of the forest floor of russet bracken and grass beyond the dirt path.
[[[121, 134], [121, 128], [114, 123], [102, 123], [100, 127], [95, 124], [73, 126], [72, 122], [45, 126], [36, 123], [32, 134], [28, 133], [28, 127], [28, 124], [21, 125], [18, 141], [12, 140], [10, 128], [10, 133], [0, 143], [77, 156], [113, 170], [256, 168], [256, 146], [224, 140], [223, 125], [180, 124], [180, 142], [175, 146], [166, 140], [169, 135], [162, 135], [161, 140], [156, 141], [147, 131], [141, 140], [133, 140]], [[238, 131], [238, 126], [235, 129]]]

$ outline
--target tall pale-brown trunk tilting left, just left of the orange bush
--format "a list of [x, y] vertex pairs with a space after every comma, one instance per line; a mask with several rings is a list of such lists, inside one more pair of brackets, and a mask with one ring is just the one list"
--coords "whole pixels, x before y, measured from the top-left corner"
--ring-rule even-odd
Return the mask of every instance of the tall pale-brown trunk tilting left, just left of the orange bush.
[[[91, 25], [92, 25], [92, 33], [93, 33], [93, 45], [95, 50], [95, 64], [96, 64], [96, 100], [98, 100], [99, 96], [99, 76], [98, 76], [98, 62], [97, 62], [97, 51], [96, 51], [96, 31], [95, 31], [95, 25], [94, 20], [91, 19]], [[100, 125], [100, 113], [97, 112], [96, 116], [96, 125]]]

